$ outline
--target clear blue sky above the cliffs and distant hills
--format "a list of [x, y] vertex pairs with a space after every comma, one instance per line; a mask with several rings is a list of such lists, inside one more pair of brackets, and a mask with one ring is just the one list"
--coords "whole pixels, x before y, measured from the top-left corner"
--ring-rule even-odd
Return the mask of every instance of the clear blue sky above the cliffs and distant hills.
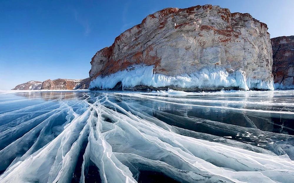
[[86, 78], [93, 55], [148, 14], [204, 4], [250, 13], [268, 25], [271, 38], [294, 35], [292, 0], [1, 0], [0, 89]]

